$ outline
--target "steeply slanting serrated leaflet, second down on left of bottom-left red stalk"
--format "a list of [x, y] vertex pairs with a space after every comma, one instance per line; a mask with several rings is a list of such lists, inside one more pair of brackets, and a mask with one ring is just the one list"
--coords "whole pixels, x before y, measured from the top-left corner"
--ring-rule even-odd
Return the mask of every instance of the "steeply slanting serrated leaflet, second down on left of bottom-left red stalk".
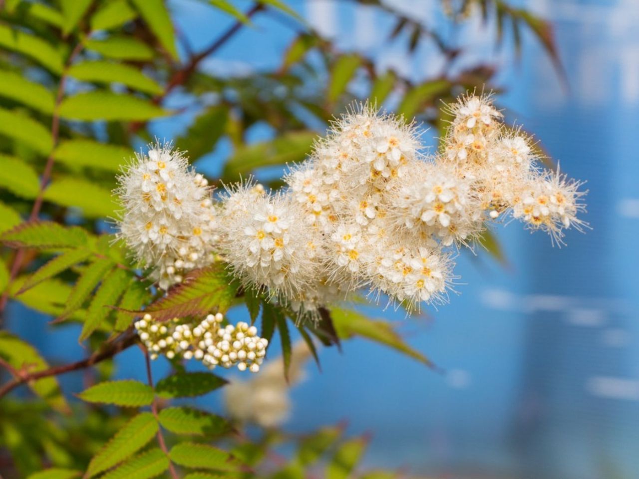
[[93, 456], [85, 477], [95, 476], [127, 459], [151, 441], [157, 432], [158, 423], [152, 413], [137, 414]]

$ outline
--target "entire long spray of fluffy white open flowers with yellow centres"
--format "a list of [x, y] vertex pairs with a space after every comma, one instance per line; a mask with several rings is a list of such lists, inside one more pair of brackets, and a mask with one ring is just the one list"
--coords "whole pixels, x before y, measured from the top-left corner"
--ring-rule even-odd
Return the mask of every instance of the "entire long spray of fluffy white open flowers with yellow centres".
[[288, 172], [286, 190], [240, 183], [217, 206], [180, 153], [157, 147], [120, 178], [120, 235], [160, 287], [215, 252], [245, 287], [301, 316], [360, 288], [408, 308], [442, 303], [452, 256], [508, 213], [557, 243], [586, 226], [580, 183], [545, 171], [490, 98], [464, 96], [449, 112], [442, 153], [425, 156], [413, 124], [351, 110]]

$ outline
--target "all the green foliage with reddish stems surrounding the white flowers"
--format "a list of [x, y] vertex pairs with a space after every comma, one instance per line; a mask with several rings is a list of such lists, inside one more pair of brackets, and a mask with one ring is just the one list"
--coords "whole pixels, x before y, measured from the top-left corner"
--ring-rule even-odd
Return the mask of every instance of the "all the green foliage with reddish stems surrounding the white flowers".
[[[227, 29], [211, 26], [210, 43], [195, 50], [172, 21], [172, 9], [181, 1], [208, 4], [234, 23]], [[343, 437], [340, 427], [304, 437], [269, 429], [249, 440], [227, 420], [210, 413], [184, 406], [159, 411], [173, 397], [192, 397], [223, 386], [222, 379], [202, 380], [203, 388], [195, 392], [177, 388], [168, 397], [156, 395], [162, 380], [155, 392], [152, 381], [150, 386], [104, 383], [112, 390], [88, 399], [114, 405], [103, 407], [65, 397], [56, 376], [84, 370], [87, 387], [109, 379], [111, 358], [135, 347], [131, 316], [123, 310], [139, 310], [160, 299], [127, 252], [114, 243], [108, 220], [118, 209], [111, 195], [115, 176], [134, 150], [155, 141], [154, 121], [188, 116], [189, 125], [173, 141], [189, 151], [192, 162], [215, 151], [223, 140], [231, 144], [219, 175], [209, 178], [215, 186], [250, 174], [262, 178], [259, 173], [270, 167], [281, 171], [286, 163], [304, 160], [318, 132], [325, 131], [331, 119], [354, 101], [387, 105], [409, 121], [415, 117], [441, 132], [447, 125], [442, 102], [465, 91], [494, 89], [495, 66], [479, 62], [460, 71], [456, 65], [466, 52], [441, 33], [463, 24], [477, 10], [486, 21], [494, 20], [495, 47], [502, 45], [509, 32], [509, 44], [514, 45], [511, 54], [516, 57], [521, 31], [527, 29], [562, 75], [549, 24], [505, 1], [442, 0], [445, 22], [437, 24], [414, 20], [381, 0], [353, 2], [374, 7], [392, 19], [392, 29], [379, 34], [387, 35], [388, 42], [401, 43], [407, 52], [415, 52], [424, 42], [436, 45], [446, 59], [443, 73], [410, 80], [380, 68], [362, 52], [341, 50], [309, 26], [295, 4], [286, 0], [175, 0], [168, 4], [162, 0], [0, 0], [2, 314], [8, 302], [17, 301], [50, 315], [51, 328], [81, 323], [79, 340], [87, 349], [86, 358], [76, 363], [49, 365], [27, 342], [0, 332], [4, 380], [0, 474], [4, 478], [62, 479], [86, 471], [85, 477], [143, 479], [173, 475], [175, 469], [181, 475], [189, 469], [208, 471], [190, 472], [190, 479], [213, 477], [213, 473], [216, 477], [277, 478], [319, 474], [331, 479], [351, 475], [367, 438]], [[255, 29], [253, 20], [258, 15], [273, 17], [296, 31], [278, 68], [242, 75], [202, 68], [238, 31]], [[256, 125], [268, 126], [271, 138], [249, 141], [248, 132]], [[281, 186], [279, 179], [264, 178], [272, 188]], [[484, 246], [505, 261], [494, 238], [486, 236]], [[199, 287], [199, 296], [193, 284]], [[220, 284], [227, 288], [224, 298], [207, 294]], [[151, 308], [173, 316], [187, 306], [188, 314], [204, 314], [213, 305], [221, 307], [223, 301], [226, 307], [245, 303], [252, 321], [261, 322], [263, 336], [279, 333], [285, 371], [290, 364], [292, 328], [300, 330], [313, 350], [312, 336], [328, 346], [361, 336], [431, 365], [382, 319], [334, 309], [324, 311], [318, 325], [296, 325], [286, 310], [233, 288], [223, 272], [196, 272], [192, 282], [169, 293], [173, 303], [156, 302]], [[183, 382], [196, 374], [185, 372], [180, 363], [173, 366]], [[22, 391], [25, 383], [33, 394]], [[7, 395], [17, 388], [19, 395]], [[145, 410], [135, 415], [135, 407], [128, 406], [150, 406], [152, 413]], [[166, 447], [159, 446], [171, 449], [168, 457], [152, 441], [158, 423], [167, 436]], [[284, 444], [289, 444], [284, 447], [286, 453], [276, 453]], [[38, 473], [42, 469], [47, 471]], [[396, 474], [371, 471], [358, 476], [381, 479]]]

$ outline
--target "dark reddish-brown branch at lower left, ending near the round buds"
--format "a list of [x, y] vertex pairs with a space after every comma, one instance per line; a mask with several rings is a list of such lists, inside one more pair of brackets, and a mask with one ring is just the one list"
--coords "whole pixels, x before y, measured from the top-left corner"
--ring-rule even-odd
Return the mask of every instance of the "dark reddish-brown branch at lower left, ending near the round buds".
[[97, 351], [96, 353], [91, 354], [88, 358], [84, 360], [77, 361], [75, 363], [63, 364], [60, 366], [50, 367], [49, 369], [44, 369], [42, 371], [36, 371], [27, 373], [25, 371], [10, 369], [12, 374], [15, 376], [12, 381], [8, 381], [0, 387], [0, 397], [3, 397], [7, 393], [11, 392], [13, 389], [20, 386], [20, 384], [29, 383], [30, 381], [35, 381], [36, 379], [42, 379], [43, 377], [49, 376], [58, 376], [58, 374], [65, 374], [65, 372], [76, 371], [79, 369], [84, 369], [93, 366], [94, 364], [99, 363], [100, 361], [107, 360], [112, 358], [116, 354], [124, 351], [130, 346], [133, 346], [137, 341], [137, 335], [133, 330], [128, 330], [123, 335], [121, 335], [121, 340], [112, 342], [108, 344], [108, 347], [103, 349], [102, 351]]

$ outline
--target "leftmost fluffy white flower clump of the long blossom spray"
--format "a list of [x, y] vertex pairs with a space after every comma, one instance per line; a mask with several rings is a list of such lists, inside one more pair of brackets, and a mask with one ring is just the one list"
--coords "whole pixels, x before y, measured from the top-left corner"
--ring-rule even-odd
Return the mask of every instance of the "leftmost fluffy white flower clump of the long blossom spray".
[[213, 261], [217, 236], [211, 188], [188, 165], [179, 151], [157, 144], [147, 155], [136, 155], [118, 178], [116, 193], [124, 206], [119, 236], [153, 269], [151, 278], [162, 289]]

